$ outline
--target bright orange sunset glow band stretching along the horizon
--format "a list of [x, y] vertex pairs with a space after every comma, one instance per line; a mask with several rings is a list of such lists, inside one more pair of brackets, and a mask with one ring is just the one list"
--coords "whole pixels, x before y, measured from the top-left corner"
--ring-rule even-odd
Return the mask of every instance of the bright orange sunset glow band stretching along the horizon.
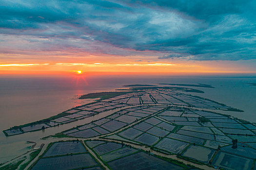
[[[201, 61], [199, 63], [195, 63], [193, 61], [146, 62], [137, 61], [134, 58], [127, 59], [125, 61], [113, 60], [106, 62], [80, 61], [67, 63], [0, 63], [0, 74], [69, 74], [73, 72], [71, 74], [80, 76], [90, 74], [90, 72], [97, 72], [97, 74], [99, 74], [99, 72], [136, 72], [148, 74], [256, 73], [256, 68], [251, 63], [251, 61], [245, 62], [245, 64], [249, 67], [241, 67], [237, 62], [231, 63], [227, 61], [222, 61], [221, 63], [219, 63], [218, 61]], [[86, 72], [84, 72], [83, 70], [86, 70]]]

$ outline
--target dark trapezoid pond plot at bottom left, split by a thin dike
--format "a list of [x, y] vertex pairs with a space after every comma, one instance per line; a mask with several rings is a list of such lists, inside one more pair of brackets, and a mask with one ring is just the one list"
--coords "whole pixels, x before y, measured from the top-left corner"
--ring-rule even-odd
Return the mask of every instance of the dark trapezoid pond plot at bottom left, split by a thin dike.
[[99, 163], [80, 141], [63, 141], [50, 144], [31, 170], [72, 170], [98, 166]]

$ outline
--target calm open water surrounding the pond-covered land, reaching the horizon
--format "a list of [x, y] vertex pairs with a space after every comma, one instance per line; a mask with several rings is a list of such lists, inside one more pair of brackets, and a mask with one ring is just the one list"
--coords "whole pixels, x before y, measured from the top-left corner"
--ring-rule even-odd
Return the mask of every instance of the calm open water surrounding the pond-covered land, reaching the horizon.
[[[112, 91], [128, 84], [208, 84], [215, 88], [198, 88], [205, 93], [193, 95], [209, 98], [245, 112], [223, 112], [240, 119], [256, 122], [256, 86], [243, 83], [256, 83], [255, 78], [206, 78], [206, 77], [145, 77], [145, 76], [77, 76], [77, 77], [0, 77], [0, 131], [15, 125], [45, 119], [69, 108], [93, 100], [79, 100], [82, 94]], [[27, 140], [52, 135], [84, 123], [81, 120], [65, 126], [46, 129], [44, 132], [26, 133], [6, 137], [0, 132], [0, 163], [25, 153]]]

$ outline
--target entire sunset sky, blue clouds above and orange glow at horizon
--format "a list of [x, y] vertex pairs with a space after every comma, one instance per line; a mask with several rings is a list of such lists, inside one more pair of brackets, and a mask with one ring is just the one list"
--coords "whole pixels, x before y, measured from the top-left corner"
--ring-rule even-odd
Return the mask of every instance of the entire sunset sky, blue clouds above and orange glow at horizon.
[[256, 73], [256, 0], [0, 4], [0, 74]]

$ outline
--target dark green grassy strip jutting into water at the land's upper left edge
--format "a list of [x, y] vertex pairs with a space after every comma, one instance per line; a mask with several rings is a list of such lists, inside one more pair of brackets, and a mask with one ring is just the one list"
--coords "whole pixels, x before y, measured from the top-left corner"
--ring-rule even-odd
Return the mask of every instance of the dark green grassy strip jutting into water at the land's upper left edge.
[[123, 94], [128, 94], [128, 93], [134, 93], [137, 91], [112, 91], [112, 92], [99, 92], [99, 93], [89, 93], [85, 94], [79, 97], [79, 99], [95, 99], [95, 98], [100, 98], [100, 100], [112, 98], [115, 96], [123, 95]]

